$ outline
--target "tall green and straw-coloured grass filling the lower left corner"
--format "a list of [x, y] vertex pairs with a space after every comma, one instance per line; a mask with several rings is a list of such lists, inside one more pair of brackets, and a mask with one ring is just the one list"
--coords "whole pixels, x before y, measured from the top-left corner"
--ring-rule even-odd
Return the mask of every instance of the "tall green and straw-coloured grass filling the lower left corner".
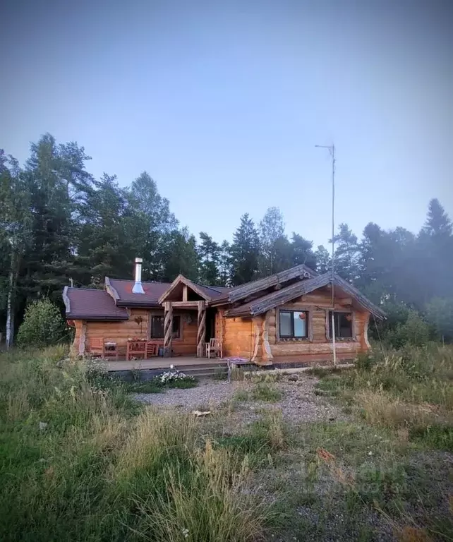
[[[63, 348], [0, 356], [2, 541], [251, 541], [248, 459], [141, 409]], [[102, 384], [102, 385], [101, 385]]]

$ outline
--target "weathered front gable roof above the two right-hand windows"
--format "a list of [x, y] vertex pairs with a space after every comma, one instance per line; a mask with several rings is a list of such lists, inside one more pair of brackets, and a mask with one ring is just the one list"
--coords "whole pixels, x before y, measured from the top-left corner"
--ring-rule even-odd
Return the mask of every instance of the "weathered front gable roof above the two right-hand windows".
[[[366, 296], [361, 294], [354, 286], [351, 286], [349, 282], [342, 279], [342, 277], [334, 275], [333, 283], [334, 286], [354, 298], [356, 303], [361, 305], [366, 311], [370, 311], [376, 318], [385, 318], [385, 313], [381, 311], [380, 308], [371, 303]], [[324, 275], [319, 275], [318, 277], [313, 277], [311, 279], [305, 279], [301, 282], [296, 282], [296, 284], [291, 284], [286, 288], [272, 291], [270, 294], [267, 294], [267, 296], [262, 296], [249, 303], [245, 303], [236, 308], [231, 308], [225, 315], [229, 318], [233, 318], [235, 316], [255, 316], [262, 314], [269, 311], [271, 308], [291, 301], [291, 299], [303, 296], [304, 294], [309, 294], [311, 291], [318, 288], [325, 287], [327, 284], [332, 284], [332, 275], [330, 273], [325, 273]]]

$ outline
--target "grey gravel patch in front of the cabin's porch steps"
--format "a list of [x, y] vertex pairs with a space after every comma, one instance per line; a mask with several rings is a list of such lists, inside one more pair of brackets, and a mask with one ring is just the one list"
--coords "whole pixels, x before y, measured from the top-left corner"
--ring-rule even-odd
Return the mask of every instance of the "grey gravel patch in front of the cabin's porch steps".
[[[286, 421], [334, 421], [346, 420], [347, 416], [339, 407], [330, 403], [324, 397], [315, 395], [315, 384], [318, 378], [306, 375], [298, 375], [298, 380], [280, 380], [271, 383], [282, 392], [282, 399], [270, 403], [259, 400], [238, 399], [238, 395], [245, 395], [254, 386], [250, 382], [217, 382], [205, 380], [198, 387], [188, 390], [172, 389], [164, 393], [135, 394], [138, 401], [163, 407], [174, 407], [186, 411], [193, 409], [215, 410], [222, 404], [234, 400], [242, 410], [250, 413], [250, 418], [255, 418], [258, 411], [263, 408], [273, 408], [282, 411]], [[235, 397], [236, 396], [236, 397]]]

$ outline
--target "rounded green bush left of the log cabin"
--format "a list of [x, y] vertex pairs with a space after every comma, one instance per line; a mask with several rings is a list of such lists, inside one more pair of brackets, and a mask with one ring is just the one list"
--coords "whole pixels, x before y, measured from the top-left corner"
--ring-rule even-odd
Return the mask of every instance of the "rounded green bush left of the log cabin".
[[67, 338], [68, 327], [52, 301], [38, 299], [25, 309], [17, 337], [20, 347], [47, 347]]

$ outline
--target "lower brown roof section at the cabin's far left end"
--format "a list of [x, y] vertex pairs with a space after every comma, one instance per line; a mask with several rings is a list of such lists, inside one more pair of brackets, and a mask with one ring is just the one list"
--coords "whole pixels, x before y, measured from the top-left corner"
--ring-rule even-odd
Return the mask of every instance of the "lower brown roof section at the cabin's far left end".
[[63, 291], [66, 318], [69, 320], [127, 320], [126, 308], [117, 307], [105, 290], [69, 288]]

